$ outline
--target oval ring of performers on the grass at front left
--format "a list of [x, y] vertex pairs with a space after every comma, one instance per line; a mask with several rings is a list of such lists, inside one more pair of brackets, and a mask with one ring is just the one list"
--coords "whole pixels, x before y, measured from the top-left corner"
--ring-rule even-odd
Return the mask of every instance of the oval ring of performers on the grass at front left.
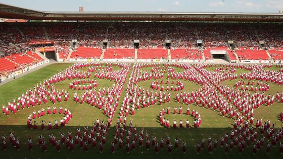
[[[37, 130], [37, 122], [36, 122], [36, 118], [40, 119], [40, 117], [43, 117], [44, 115], [56, 115], [57, 114], [57, 109], [56, 107], [54, 106], [53, 107], [53, 111], [51, 112], [51, 108], [48, 107], [47, 110], [46, 110], [46, 114], [45, 114], [45, 110], [42, 108], [41, 110], [39, 110], [36, 114], [36, 111], [33, 111], [32, 114], [29, 114], [28, 118], [27, 118], [27, 127], [30, 128], [30, 129], [34, 129], [34, 130]], [[60, 107], [59, 108], [59, 114], [62, 114], [64, 115], [63, 118], [61, 118], [60, 121], [57, 121], [55, 120], [54, 121], [54, 129], [58, 129], [59, 126], [61, 125], [62, 127], [64, 127], [66, 124], [69, 123], [69, 121], [73, 118], [73, 115], [72, 113], [67, 110], [65, 108], [64, 112], [63, 112], [63, 108]], [[41, 120], [40, 121], [40, 129], [41, 130], [45, 130], [45, 121], [44, 120]], [[49, 122], [48, 125], [47, 125], [47, 130], [51, 130], [53, 129], [53, 126], [52, 126], [52, 123]]]

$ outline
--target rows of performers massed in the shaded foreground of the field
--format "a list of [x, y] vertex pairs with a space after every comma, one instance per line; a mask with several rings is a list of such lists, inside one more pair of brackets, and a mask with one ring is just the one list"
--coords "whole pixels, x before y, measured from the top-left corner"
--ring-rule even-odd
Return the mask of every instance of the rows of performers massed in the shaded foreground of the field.
[[[88, 128], [84, 126], [83, 130], [77, 128], [77, 131], [74, 134], [71, 131], [68, 131], [67, 134], [61, 133], [60, 137], [56, 137], [53, 134], [49, 134], [49, 140], [45, 140], [42, 135], [38, 135], [38, 141], [36, 142], [39, 147], [42, 148], [42, 151], [47, 151], [46, 144], [52, 145], [58, 152], [61, 151], [62, 146], [64, 145], [65, 149], [70, 149], [74, 151], [75, 149], [83, 149], [85, 152], [88, 149], [99, 147], [98, 150], [100, 153], [103, 152], [106, 145], [106, 136], [108, 129], [110, 127], [104, 121], [97, 119], [93, 122], [93, 126]], [[139, 134], [137, 132], [137, 126], [133, 126], [132, 120], [129, 121], [127, 126], [126, 119], [118, 119], [115, 127], [114, 137], [110, 144], [110, 150], [112, 153], [116, 149], [122, 150], [125, 149], [127, 153], [131, 150], [135, 150], [137, 146], [141, 151], [150, 150], [150, 147], [153, 147], [154, 152], [158, 153], [159, 150], [167, 149], [168, 153], [171, 153], [173, 149], [180, 148], [183, 153], [186, 152], [186, 142], [183, 141], [179, 145], [178, 138], [174, 138], [173, 141], [170, 139], [170, 135], [167, 134], [166, 138], [158, 139], [155, 135], [150, 136], [148, 132], [144, 132], [144, 128], [140, 128]], [[13, 134], [14, 132], [10, 131], [9, 141], [12, 147], [16, 147], [17, 150], [20, 150], [20, 141], [16, 139]], [[229, 133], [225, 133], [220, 138], [215, 138], [213, 140], [211, 137], [208, 139], [202, 139], [201, 142], [198, 142], [196, 145], [197, 153], [204, 151], [205, 147], [209, 153], [213, 153], [213, 149], [218, 149], [218, 147], [223, 147], [223, 153], [229, 153], [231, 150], [237, 150], [241, 153], [245, 150], [246, 147], [252, 147], [252, 153], [256, 153], [258, 150], [263, 150], [263, 147], [266, 147], [266, 153], [269, 153], [272, 147], [278, 146], [278, 150], [281, 154], [283, 153], [283, 142], [281, 138], [283, 135], [283, 127], [275, 130], [275, 124], [270, 123], [269, 120], [262, 123], [262, 119], [257, 120], [255, 127], [249, 125], [248, 122], [245, 122], [241, 125], [234, 124], [233, 129]], [[8, 142], [5, 134], [2, 135], [2, 145], [3, 149], [7, 150]], [[218, 143], [219, 142], [219, 143]], [[265, 146], [266, 145], [266, 146]], [[145, 148], [143, 148], [145, 146]], [[28, 149], [33, 150], [32, 138], [28, 139]]]

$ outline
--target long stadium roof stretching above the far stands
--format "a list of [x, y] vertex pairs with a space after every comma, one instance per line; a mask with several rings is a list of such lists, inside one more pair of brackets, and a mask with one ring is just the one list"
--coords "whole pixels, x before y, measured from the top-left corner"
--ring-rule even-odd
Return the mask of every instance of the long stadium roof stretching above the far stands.
[[0, 4], [0, 18], [85, 21], [247, 21], [283, 22], [282, 13], [47, 12]]

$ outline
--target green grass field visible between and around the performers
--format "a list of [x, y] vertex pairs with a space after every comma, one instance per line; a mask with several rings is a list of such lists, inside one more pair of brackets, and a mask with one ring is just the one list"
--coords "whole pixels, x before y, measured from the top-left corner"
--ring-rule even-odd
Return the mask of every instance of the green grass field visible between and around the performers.
[[[53, 76], [54, 74], [68, 68], [72, 64], [52, 64], [49, 66], [46, 66], [44, 68], [41, 68], [35, 72], [32, 72], [26, 76], [16, 78], [15, 80], [0, 86], [0, 104], [6, 104], [9, 100], [12, 100], [13, 98], [17, 98], [22, 93], [24, 93], [29, 88], [33, 88], [33, 85], [36, 83], [39, 83], [40, 81], [43, 81], [43, 79], [49, 78]], [[114, 70], [121, 69], [119, 67], [113, 67]], [[176, 72], [183, 71], [180, 68], [174, 68]], [[215, 68], [208, 68], [208, 71], [213, 71]], [[83, 68], [82, 70], [87, 70], [86, 68]], [[145, 68], [144, 70], [150, 71], [151, 68]], [[270, 70], [278, 70], [275, 66], [270, 68]], [[248, 72], [246, 70], [237, 69], [237, 74], [239, 75], [242, 72]], [[93, 73], [91, 73], [91, 77], [89, 79], [94, 79]], [[129, 75], [126, 78], [126, 83], [128, 82]], [[12, 130], [14, 132], [14, 135], [16, 138], [20, 140], [21, 149], [20, 151], [17, 151], [15, 147], [12, 147], [10, 142], [8, 141], [8, 150], [4, 151], [3, 148], [0, 148], [0, 156], [1, 158], [122, 158], [122, 157], [131, 157], [131, 158], [193, 158], [193, 157], [201, 157], [201, 158], [280, 158], [282, 155], [279, 153], [278, 144], [275, 147], [271, 148], [271, 151], [269, 154], [266, 154], [266, 143], [265, 141], [264, 146], [259, 150], [256, 154], [252, 154], [252, 144], [249, 147], [246, 147], [245, 150], [239, 154], [238, 148], [234, 147], [233, 150], [229, 151], [228, 154], [224, 154], [224, 147], [220, 147], [220, 142], [218, 143], [218, 149], [213, 150], [213, 153], [208, 153], [207, 144], [203, 150], [201, 150], [200, 154], [196, 153], [196, 144], [197, 142], [200, 142], [202, 138], [207, 139], [209, 136], [212, 137], [212, 140], [214, 141], [215, 138], [220, 138], [221, 136], [224, 136], [225, 132], [229, 133], [231, 128], [233, 127], [233, 119], [229, 119], [227, 117], [222, 117], [221, 113], [218, 111], [209, 110], [207, 108], [198, 107], [195, 104], [190, 105], [191, 110], [196, 110], [199, 112], [199, 114], [202, 117], [202, 124], [199, 129], [177, 129], [174, 130], [172, 128], [165, 129], [163, 128], [159, 121], [158, 121], [158, 115], [162, 108], [166, 110], [167, 107], [174, 108], [175, 106], [178, 108], [179, 105], [182, 105], [183, 112], [185, 113], [185, 110], [187, 108], [187, 105], [182, 103], [177, 103], [175, 100], [176, 93], [175, 91], [172, 91], [171, 95], [171, 102], [166, 102], [165, 104], [162, 104], [160, 106], [159, 104], [150, 106], [149, 108], [145, 109], [139, 109], [135, 111], [135, 115], [131, 116], [129, 115], [128, 119], [133, 120], [133, 125], [138, 126], [138, 133], [139, 129], [141, 127], [145, 128], [145, 133], [148, 132], [150, 136], [156, 136], [157, 140], [160, 141], [160, 138], [166, 138], [166, 134], [171, 135], [171, 142], [174, 143], [174, 138], [179, 138], [179, 148], [175, 150], [173, 148], [172, 153], [169, 154], [167, 151], [167, 148], [165, 146], [164, 150], [159, 150], [159, 153], [156, 154], [154, 152], [154, 147], [151, 145], [150, 150], [146, 150], [145, 146], [138, 147], [138, 144], [136, 144], [135, 150], [130, 150], [129, 153], [126, 153], [125, 145], [123, 145], [122, 150], [119, 150], [118, 145], [116, 147], [116, 153], [111, 153], [110, 151], [110, 143], [113, 141], [113, 135], [115, 131], [115, 121], [118, 117], [119, 111], [116, 111], [114, 116], [114, 124], [112, 124], [111, 129], [109, 129], [107, 138], [106, 138], [106, 145], [104, 146], [103, 153], [100, 154], [98, 150], [98, 146], [95, 149], [90, 148], [88, 152], [84, 152], [83, 149], [79, 149], [78, 146], [75, 147], [74, 152], [71, 152], [69, 149], [66, 149], [64, 145], [61, 145], [61, 152], [57, 152], [56, 148], [54, 148], [52, 145], [48, 144], [48, 148], [46, 152], [42, 151], [42, 148], [40, 148], [38, 145], [36, 145], [38, 138], [38, 135], [43, 135], [46, 142], [48, 142], [49, 134], [54, 134], [57, 139], [60, 139], [60, 133], [65, 133], [69, 130], [73, 132], [73, 137], [76, 133], [76, 129], [78, 127], [83, 127], [85, 125], [92, 126], [92, 121], [95, 121], [97, 118], [100, 120], [107, 120], [108, 118], [103, 114], [103, 110], [99, 110], [96, 107], [91, 107], [90, 105], [84, 103], [79, 104], [75, 103], [73, 101], [73, 94], [74, 90], [69, 89], [70, 82], [74, 81], [75, 79], [71, 80], [65, 80], [63, 82], [59, 82], [55, 84], [56, 89], [65, 89], [68, 90], [70, 93], [70, 99], [65, 102], [56, 103], [55, 106], [57, 109], [59, 107], [67, 108], [71, 111], [73, 114], [73, 118], [71, 119], [70, 123], [64, 127], [59, 128], [58, 130], [30, 130], [26, 126], [26, 120], [29, 114], [32, 114], [32, 112], [38, 111], [41, 108], [46, 108], [50, 106], [53, 108], [53, 105], [51, 101], [48, 101], [47, 104], [42, 104], [41, 106], [36, 105], [34, 108], [29, 108], [25, 110], [21, 110], [17, 112], [17, 114], [11, 114], [10, 116], [6, 116], [5, 114], [1, 114], [0, 116], [0, 131], [1, 134], [5, 134], [6, 138], [9, 140], [9, 132]], [[164, 74], [163, 80], [167, 80], [166, 74]], [[222, 82], [223, 85], [229, 85], [231, 87], [234, 86], [234, 84], [240, 80], [227, 80]], [[97, 88], [103, 88], [107, 86], [112, 86], [113, 81], [105, 80], [105, 79], [97, 79], [98, 81], [98, 87]], [[141, 86], [145, 89], [150, 88], [151, 83], [154, 80], [147, 80], [142, 81], [138, 83], [138, 86]], [[170, 80], [169, 80], [170, 81]], [[201, 87], [201, 85], [197, 85], [190, 81], [184, 81], [182, 80], [182, 83], [184, 84], [184, 89], [182, 91], [187, 90], [196, 90]], [[278, 86], [272, 83], [269, 83], [270, 89], [266, 92], [266, 94], [270, 93], [271, 95], [275, 94], [277, 91], [281, 92], [283, 90], [282, 86]], [[126, 84], [124, 85], [124, 90], [120, 96], [120, 103], [122, 102], [124, 96], [125, 96], [125, 88]], [[82, 93], [83, 91], [78, 91], [78, 94]], [[180, 92], [180, 91], [179, 91]], [[281, 127], [282, 123], [278, 119], [279, 113], [282, 111], [283, 107], [282, 104], [274, 101], [273, 105], [270, 105], [270, 107], [267, 107], [266, 105], [261, 105], [259, 109], [255, 111], [255, 119], [261, 117], [263, 118], [263, 121], [271, 120], [273, 123], [276, 123], [276, 128]], [[173, 110], [171, 110], [172, 112]], [[60, 120], [60, 115], [45, 115], [40, 120], [45, 120], [46, 122], [51, 121], [52, 123], [54, 120]], [[193, 124], [193, 118], [190, 116], [186, 116], [184, 114], [182, 115], [165, 115], [165, 118], [168, 118], [171, 121], [176, 120], [177, 122], [179, 120], [185, 121], [188, 119], [190, 121], [190, 124]], [[128, 120], [129, 121], [129, 120]], [[39, 120], [37, 120], [39, 123]], [[38, 124], [38, 126], [40, 126]], [[81, 130], [82, 131], [82, 130]], [[276, 129], [277, 131], [277, 129]], [[67, 136], [67, 135], [66, 135]], [[258, 135], [260, 136], [260, 135]], [[31, 137], [33, 139], [33, 151], [28, 150], [28, 138]], [[182, 141], [186, 141], [186, 148], [187, 151], [185, 154], [181, 151], [181, 143]], [[281, 139], [282, 141], [282, 139]], [[145, 141], [144, 144], [145, 145]]]

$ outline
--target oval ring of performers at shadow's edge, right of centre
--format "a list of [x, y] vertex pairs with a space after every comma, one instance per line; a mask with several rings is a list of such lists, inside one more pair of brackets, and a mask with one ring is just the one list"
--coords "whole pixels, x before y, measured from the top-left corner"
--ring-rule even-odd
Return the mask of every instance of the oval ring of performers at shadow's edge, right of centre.
[[[167, 115], [170, 114], [170, 107], [167, 108], [166, 114]], [[176, 115], [176, 114], [179, 114], [179, 115], [183, 114], [182, 107], [179, 107], [178, 113], [177, 113], [177, 108], [175, 107], [174, 108], [174, 112], [172, 112], [171, 114], [174, 114], [174, 115]], [[187, 107], [186, 112], [184, 114], [186, 114], [187, 116], [191, 115], [192, 117], [195, 118], [195, 120], [194, 120], [194, 128], [195, 129], [200, 127], [200, 125], [202, 123], [202, 120], [201, 120], [201, 115], [198, 113], [198, 111], [192, 110], [192, 113], [190, 114], [190, 108]], [[164, 116], [165, 116], [165, 109], [162, 109], [160, 111], [160, 113], [159, 113], [159, 122], [161, 123], [161, 125], [163, 127], [169, 128], [170, 125], [171, 125], [171, 124], [169, 124], [169, 119], [165, 119]], [[188, 119], [185, 120], [184, 124], [185, 124], [185, 128], [186, 129], [190, 128], [190, 121], [188, 121]], [[174, 128], [174, 129], [177, 129], [177, 128], [182, 129], [184, 127], [183, 120], [179, 121], [179, 125], [177, 125], [177, 121], [174, 120], [173, 124], [171, 125], [171, 127]]]

